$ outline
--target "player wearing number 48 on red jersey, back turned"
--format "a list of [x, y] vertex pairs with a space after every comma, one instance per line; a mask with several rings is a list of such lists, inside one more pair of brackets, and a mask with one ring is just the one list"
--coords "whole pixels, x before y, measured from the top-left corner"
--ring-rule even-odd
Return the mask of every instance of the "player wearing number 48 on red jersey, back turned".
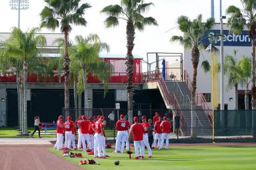
[[128, 129], [130, 128], [130, 124], [127, 120], [125, 120], [125, 116], [123, 114], [120, 115], [120, 120], [115, 124], [115, 129], [117, 130], [117, 140], [115, 142], [115, 151], [114, 153], [120, 152], [120, 144], [121, 144], [121, 153], [123, 153], [125, 143], [126, 143], [126, 151], [129, 151], [129, 140], [128, 140]]

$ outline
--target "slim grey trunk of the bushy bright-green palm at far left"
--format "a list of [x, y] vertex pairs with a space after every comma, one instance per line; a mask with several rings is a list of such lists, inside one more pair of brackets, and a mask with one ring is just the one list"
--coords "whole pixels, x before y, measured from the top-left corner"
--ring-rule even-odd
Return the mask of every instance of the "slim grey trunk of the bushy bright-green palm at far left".
[[24, 133], [27, 134], [27, 60], [23, 63], [23, 124]]

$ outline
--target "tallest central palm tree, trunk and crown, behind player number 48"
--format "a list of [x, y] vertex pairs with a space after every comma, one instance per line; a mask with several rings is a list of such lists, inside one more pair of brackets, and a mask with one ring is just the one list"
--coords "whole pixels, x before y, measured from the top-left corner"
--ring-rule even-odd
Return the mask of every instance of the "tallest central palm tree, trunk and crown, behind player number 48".
[[143, 13], [153, 3], [144, 3], [143, 0], [121, 0], [121, 5], [109, 5], [102, 9], [101, 13], [107, 15], [105, 25], [107, 28], [119, 25], [119, 20], [127, 22], [127, 74], [128, 74], [128, 117], [133, 122], [133, 48], [135, 46], [135, 29], [143, 31], [146, 25], [157, 25], [153, 17], [144, 17]]

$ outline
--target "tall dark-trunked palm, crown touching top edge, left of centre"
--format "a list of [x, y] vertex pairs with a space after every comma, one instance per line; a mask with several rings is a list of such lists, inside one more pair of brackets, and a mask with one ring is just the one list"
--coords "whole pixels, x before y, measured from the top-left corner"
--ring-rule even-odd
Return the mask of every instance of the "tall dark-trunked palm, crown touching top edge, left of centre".
[[[83, 18], [85, 10], [89, 9], [89, 3], [81, 3], [81, 0], [45, 0], [47, 6], [41, 11], [41, 27], [55, 30], [61, 27], [64, 33], [64, 70], [65, 70], [65, 108], [69, 108], [69, 54], [68, 34], [72, 30], [71, 25], [86, 26], [87, 21]], [[65, 113], [67, 116], [68, 113]]]

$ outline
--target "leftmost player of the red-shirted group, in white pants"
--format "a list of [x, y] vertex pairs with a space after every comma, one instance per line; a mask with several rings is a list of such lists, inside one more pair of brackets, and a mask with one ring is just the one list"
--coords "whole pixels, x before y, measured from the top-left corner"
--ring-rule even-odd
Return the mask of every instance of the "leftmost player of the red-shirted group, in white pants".
[[57, 141], [54, 146], [54, 148], [57, 150], [60, 150], [63, 148], [63, 133], [64, 133], [63, 124], [64, 124], [63, 116], [59, 116], [57, 120], [57, 125], [56, 125]]

